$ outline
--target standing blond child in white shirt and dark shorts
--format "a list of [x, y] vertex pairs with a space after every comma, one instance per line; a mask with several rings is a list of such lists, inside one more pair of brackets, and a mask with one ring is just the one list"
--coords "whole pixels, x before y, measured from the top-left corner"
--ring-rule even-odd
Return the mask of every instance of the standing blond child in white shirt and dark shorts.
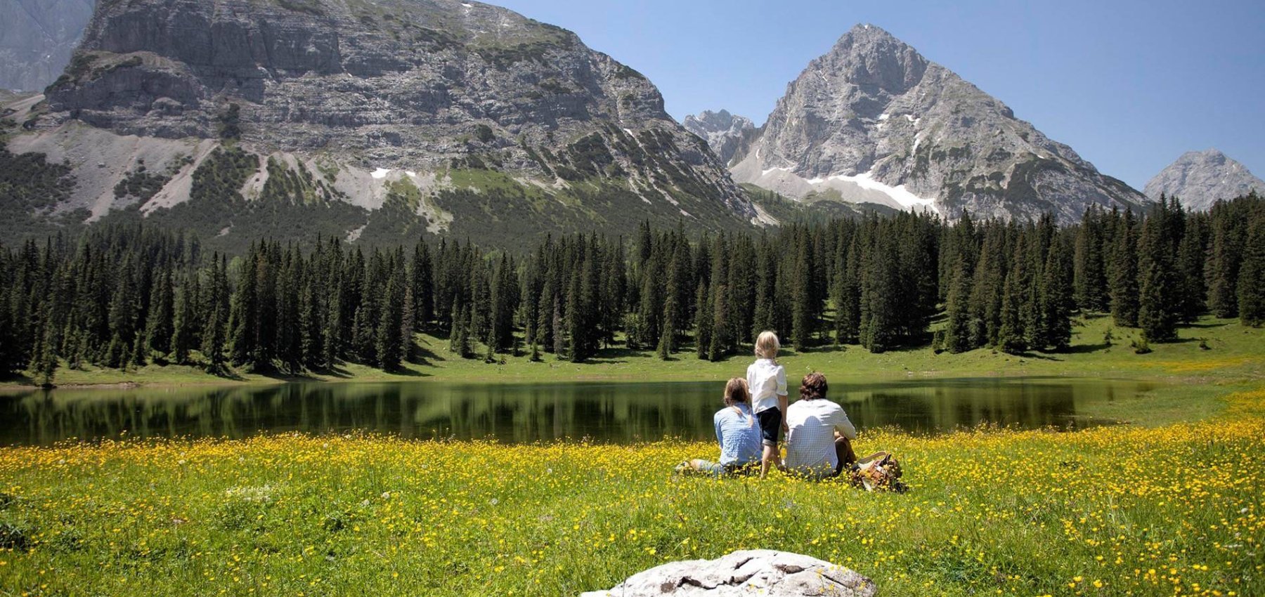
[[762, 331], [755, 339], [755, 362], [746, 368], [746, 386], [751, 391], [751, 411], [760, 421], [760, 478], [769, 474], [769, 465], [782, 468], [778, 441], [787, 433], [787, 372], [775, 360], [782, 343], [772, 331]]

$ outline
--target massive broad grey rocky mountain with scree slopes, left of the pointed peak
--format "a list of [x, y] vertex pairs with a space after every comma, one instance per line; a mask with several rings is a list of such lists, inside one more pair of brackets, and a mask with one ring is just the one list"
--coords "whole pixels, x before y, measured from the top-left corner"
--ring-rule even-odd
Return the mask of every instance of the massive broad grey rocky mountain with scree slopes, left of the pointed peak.
[[234, 237], [281, 205], [496, 244], [759, 215], [644, 76], [479, 3], [101, 0], [47, 99], [6, 111], [13, 154], [70, 168], [52, 215]]

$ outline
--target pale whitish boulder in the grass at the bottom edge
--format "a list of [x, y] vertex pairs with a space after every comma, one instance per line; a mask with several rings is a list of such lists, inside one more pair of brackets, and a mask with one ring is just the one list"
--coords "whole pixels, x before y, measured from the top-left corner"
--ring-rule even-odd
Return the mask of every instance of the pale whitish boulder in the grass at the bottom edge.
[[841, 565], [789, 551], [755, 549], [713, 560], [670, 562], [639, 572], [608, 591], [589, 591], [581, 597], [870, 597], [877, 589], [873, 581]]

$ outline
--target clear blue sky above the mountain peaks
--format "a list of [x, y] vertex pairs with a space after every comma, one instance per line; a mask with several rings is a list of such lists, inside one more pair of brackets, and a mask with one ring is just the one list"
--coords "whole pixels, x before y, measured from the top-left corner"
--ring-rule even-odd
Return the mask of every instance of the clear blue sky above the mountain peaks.
[[645, 73], [678, 120], [760, 124], [856, 23], [913, 46], [1141, 188], [1216, 147], [1265, 177], [1265, 3], [491, 0]]

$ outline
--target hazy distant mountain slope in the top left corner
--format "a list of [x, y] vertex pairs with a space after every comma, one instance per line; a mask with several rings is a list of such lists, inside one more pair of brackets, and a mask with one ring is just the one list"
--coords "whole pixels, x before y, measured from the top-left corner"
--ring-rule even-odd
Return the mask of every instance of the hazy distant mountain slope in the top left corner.
[[0, 3], [0, 89], [38, 91], [53, 82], [92, 16], [92, 0]]

